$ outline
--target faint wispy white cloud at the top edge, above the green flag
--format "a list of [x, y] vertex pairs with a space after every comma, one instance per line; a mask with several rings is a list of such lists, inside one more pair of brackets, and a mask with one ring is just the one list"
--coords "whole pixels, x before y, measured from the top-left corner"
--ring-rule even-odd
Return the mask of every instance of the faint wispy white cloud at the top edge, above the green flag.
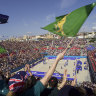
[[68, 8], [72, 5], [74, 5], [77, 2], [77, 0], [61, 0], [60, 8]]

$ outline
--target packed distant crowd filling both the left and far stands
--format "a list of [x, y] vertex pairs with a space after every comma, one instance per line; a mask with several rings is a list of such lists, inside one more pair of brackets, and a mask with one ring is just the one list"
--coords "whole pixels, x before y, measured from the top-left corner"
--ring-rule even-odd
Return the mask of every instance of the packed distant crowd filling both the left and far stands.
[[[6, 74], [12, 69], [43, 57], [43, 54], [40, 54], [42, 52], [46, 52], [48, 55], [57, 55], [66, 48], [70, 41], [71, 39], [68, 38], [22, 42], [2, 41], [0, 46], [7, 50], [7, 56], [3, 54], [4, 56], [0, 58], [0, 70]], [[74, 39], [65, 55], [86, 55], [86, 43], [85, 39]]]

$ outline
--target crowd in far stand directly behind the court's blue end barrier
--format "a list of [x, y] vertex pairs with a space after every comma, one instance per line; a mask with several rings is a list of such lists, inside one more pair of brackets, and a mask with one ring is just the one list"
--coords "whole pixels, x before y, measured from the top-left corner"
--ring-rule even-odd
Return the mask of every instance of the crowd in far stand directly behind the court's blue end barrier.
[[[54, 40], [49, 43], [48, 55], [57, 55], [58, 53], [62, 52], [70, 42], [71, 39], [61, 39], [61, 40]], [[87, 56], [87, 40], [86, 39], [74, 39], [73, 43], [69, 46], [68, 50], [66, 51], [66, 56]], [[55, 50], [54, 50], [55, 49]]]

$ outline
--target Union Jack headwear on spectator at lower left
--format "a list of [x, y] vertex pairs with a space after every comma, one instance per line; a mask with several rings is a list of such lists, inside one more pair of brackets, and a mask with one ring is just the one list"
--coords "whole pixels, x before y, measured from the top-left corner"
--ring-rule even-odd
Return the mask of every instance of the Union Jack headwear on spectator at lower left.
[[22, 91], [28, 74], [25, 71], [19, 71], [9, 79], [9, 90], [13, 92]]

